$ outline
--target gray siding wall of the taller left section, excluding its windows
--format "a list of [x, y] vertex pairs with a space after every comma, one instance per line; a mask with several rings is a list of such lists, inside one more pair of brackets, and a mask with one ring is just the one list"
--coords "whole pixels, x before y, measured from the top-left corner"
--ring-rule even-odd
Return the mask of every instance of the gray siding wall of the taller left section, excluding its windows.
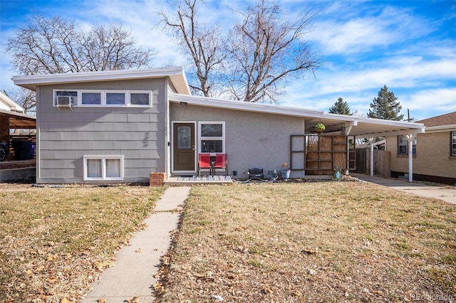
[[[84, 155], [123, 155], [125, 182], [165, 171], [165, 79], [43, 85], [38, 90], [38, 183], [83, 181]], [[142, 90], [152, 107], [53, 107], [53, 89]]]

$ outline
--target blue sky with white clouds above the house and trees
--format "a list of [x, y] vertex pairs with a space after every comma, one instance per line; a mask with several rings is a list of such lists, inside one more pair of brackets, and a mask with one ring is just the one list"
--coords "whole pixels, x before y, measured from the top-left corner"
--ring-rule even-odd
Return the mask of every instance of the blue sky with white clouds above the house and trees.
[[[207, 0], [204, 22], [225, 28], [252, 1]], [[298, 1], [282, 0], [293, 18], [307, 6], [320, 10], [306, 36], [324, 65], [286, 87], [281, 105], [328, 111], [338, 97], [366, 115], [383, 85], [395, 93], [403, 114], [424, 119], [456, 111], [456, 1]], [[175, 41], [154, 26], [157, 12], [174, 11], [165, 0], [0, 0], [0, 89], [14, 87], [8, 38], [31, 14], [73, 18], [81, 26], [123, 23], [138, 45], [154, 48], [152, 65], [187, 64]], [[234, 10], [234, 11], [233, 11]]]

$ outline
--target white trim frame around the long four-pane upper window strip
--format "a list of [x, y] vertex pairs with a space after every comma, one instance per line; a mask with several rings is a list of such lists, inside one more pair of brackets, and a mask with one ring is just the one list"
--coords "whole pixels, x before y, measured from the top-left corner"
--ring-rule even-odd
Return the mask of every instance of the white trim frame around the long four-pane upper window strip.
[[[76, 100], [71, 107], [152, 107], [152, 92], [150, 90], [66, 90], [58, 89], [53, 90], [53, 107], [58, 107], [56, 104], [57, 92], [77, 92]], [[100, 100], [101, 104], [83, 104], [82, 94], [83, 92], [87, 93], [99, 93], [101, 95]], [[106, 104], [106, 94], [107, 93], [123, 93], [125, 94], [125, 104]], [[149, 104], [147, 105], [132, 105], [130, 102], [131, 94], [147, 94], [149, 95]]]

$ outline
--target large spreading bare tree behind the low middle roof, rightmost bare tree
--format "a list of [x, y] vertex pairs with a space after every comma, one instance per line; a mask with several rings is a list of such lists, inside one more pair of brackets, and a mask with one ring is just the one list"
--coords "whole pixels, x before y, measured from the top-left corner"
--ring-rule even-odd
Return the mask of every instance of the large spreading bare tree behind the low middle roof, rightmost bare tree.
[[314, 73], [321, 59], [303, 39], [315, 15], [309, 10], [291, 20], [267, 0], [247, 9], [229, 34], [229, 91], [234, 99], [277, 102], [286, 80]]

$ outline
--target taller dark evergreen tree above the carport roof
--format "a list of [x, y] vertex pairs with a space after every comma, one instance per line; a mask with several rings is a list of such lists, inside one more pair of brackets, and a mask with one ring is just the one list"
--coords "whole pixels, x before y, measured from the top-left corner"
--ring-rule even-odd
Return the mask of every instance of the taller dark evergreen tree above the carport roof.
[[378, 92], [378, 97], [374, 98], [371, 102], [371, 110], [368, 112], [368, 117], [379, 118], [387, 120], [400, 121], [404, 115], [399, 115], [402, 106], [400, 105], [398, 97], [395, 97], [394, 92], [388, 92], [386, 85]]

